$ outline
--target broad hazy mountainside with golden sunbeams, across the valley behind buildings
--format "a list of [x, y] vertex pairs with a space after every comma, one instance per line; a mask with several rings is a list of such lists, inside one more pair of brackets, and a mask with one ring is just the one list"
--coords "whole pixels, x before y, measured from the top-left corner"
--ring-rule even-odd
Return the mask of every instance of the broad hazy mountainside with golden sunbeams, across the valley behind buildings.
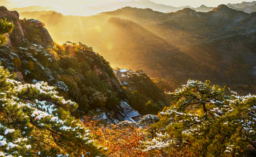
[[[239, 34], [254, 36], [254, 13], [237, 11], [227, 5], [219, 5], [207, 13], [190, 8], [161, 13], [152, 9], [125, 7], [89, 17], [52, 13], [39, 19], [45, 22], [58, 43], [68, 38], [87, 43], [112, 67], [141, 69], [150, 77], [211, 78], [214, 81], [253, 83], [253, 58], [245, 62], [248, 70], [243, 71], [243, 75], [246, 79], [222, 73], [234, 70], [227, 64], [233, 63], [235, 52], [253, 55], [253, 47], [246, 45], [253, 45], [253, 38], [248, 41], [238, 38], [237, 41], [235, 37]], [[62, 34], [55, 33], [56, 30]], [[226, 39], [226, 36], [231, 37]], [[210, 46], [215, 43], [213, 40], [223, 37], [227, 46]], [[239, 42], [244, 44], [239, 45]], [[213, 49], [205, 49], [207, 47]], [[242, 58], [248, 59], [245, 56]]]

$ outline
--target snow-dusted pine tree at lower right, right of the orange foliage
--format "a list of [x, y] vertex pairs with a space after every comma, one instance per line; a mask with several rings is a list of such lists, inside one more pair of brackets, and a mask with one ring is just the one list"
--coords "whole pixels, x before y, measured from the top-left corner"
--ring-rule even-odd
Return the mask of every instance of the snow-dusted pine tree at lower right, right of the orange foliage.
[[170, 156], [256, 152], [256, 96], [239, 97], [230, 89], [227, 96], [218, 87], [211, 87], [209, 81], [188, 80], [183, 88], [169, 93], [173, 105], [161, 112], [161, 120], [154, 125], [157, 137], [147, 151], [164, 150]]

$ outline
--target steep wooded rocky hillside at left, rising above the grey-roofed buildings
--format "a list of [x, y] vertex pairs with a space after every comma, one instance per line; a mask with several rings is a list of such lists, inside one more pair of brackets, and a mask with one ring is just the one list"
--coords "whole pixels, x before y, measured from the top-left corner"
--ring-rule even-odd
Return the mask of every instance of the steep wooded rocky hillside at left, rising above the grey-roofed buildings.
[[[145, 106], [148, 101], [153, 102], [152, 105], [157, 107], [152, 114], [157, 114], [163, 107], [169, 106], [169, 98], [145, 73], [141, 76], [132, 76], [134, 84], [124, 88], [122, 82], [113, 73], [109, 62], [94, 52], [92, 47], [81, 42], [76, 44], [70, 41], [63, 45], [56, 44], [40, 22], [19, 20], [17, 11], [10, 12], [5, 7], [0, 9], [2, 18], [7, 18], [8, 22], [13, 22], [16, 26], [12, 33], [5, 34], [8, 43], [0, 48], [2, 66], [16, 72], [17, 79], [22, 83], [45, 81], [49, 85], [56, 86], [61, 96], [78, 104], [78, 109], [72, 112], [72, 115], [77, 118], [83, 114], [95, 114], [96, 107], [118, 112], [122, 99], [133, 102], [130, 105], [142, 115], [152, 112]], [[115, 20], [118, 21], [113, 19]], [[122, 23], [122, 20], [119, 22]], [[143, 27], [130, 20], [126, 20], [124, 25], [132, 28], [139, 27], [140, 32], [145, 31]], [[122, 31], [120, 29], [120, 32]], [[151, 35], [153, 34], [148, 32], [148, 37]], [[161, 39], [158, 37], [157, 40]], [[149, 58], [155, 55], [152, 53]], [[123, 55], [123, 57], [126, 56]], [[140, 87], [139, 91], [137, 87]]]

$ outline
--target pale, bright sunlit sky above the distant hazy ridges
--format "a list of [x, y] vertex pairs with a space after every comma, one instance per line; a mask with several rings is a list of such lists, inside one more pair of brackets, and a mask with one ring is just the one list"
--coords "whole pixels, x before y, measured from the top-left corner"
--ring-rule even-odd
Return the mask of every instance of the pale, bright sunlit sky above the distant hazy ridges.
[[[80, 11], [88, 5], [100, 5], [104, 3], [116, 2], [117, 0], [7, 0], [16, 2], [21, 7], [30, 5], [53, 6], [59, 7], [66, 15], [74, 15], [76, 11]], [[130, 0], [119, 0], [130, 1]], [[151, 0], [152, 2], [175, 7], [190, 5], [191, 7], [199, 7], [200, 5], [216, 7], [220, 4], [241, 3], [243, 0]], [[20, 2], [20, 3], [17, 3]], [[79, 12], [78, 11], [78, 12]]]

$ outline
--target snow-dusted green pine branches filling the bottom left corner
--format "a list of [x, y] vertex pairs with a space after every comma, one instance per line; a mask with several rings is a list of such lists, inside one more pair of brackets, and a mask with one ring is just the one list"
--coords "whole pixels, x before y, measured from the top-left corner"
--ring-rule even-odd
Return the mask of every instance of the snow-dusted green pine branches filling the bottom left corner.
[[75, 102], [46, 82], [24, 84], [0, 67], [0, 156], [97, 156], [90, 130], [70, 116]]

